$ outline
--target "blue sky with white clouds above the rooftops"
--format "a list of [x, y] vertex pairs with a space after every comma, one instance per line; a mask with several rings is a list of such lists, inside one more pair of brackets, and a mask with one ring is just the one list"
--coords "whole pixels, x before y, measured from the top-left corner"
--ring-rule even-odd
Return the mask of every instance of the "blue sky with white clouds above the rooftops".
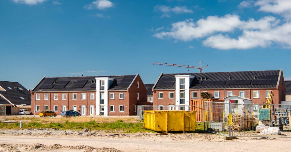
[[[291, 79], [288, 0], [1, 0], [0, 80], [283, 69]], [[191, 62], [193, 61], [193, 62]], [[203, 63], [204, 64], [204, 63]], [[189, 72], [198, 72], [190, 69]]]

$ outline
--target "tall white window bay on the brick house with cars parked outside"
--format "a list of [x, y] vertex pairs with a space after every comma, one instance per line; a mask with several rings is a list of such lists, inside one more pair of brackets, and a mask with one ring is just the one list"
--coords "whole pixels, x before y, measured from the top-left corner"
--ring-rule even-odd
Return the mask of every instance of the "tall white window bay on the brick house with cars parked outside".
[[97, 77], [96, 79], [96, 115], [108, 116], [108, 89], [114, 78]]

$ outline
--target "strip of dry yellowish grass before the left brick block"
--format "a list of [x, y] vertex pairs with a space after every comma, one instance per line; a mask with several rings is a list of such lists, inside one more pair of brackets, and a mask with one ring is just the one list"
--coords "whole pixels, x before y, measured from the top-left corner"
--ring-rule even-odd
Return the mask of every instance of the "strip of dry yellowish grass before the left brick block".
[[98, 117], [98, 116], [81, 116], [81, 117], [47, 117], [47, 118], [40, 118], [40, 117], [23, 117], [23, 116], [7, 116], [6, 119], [8, 120], [19, 120], [19, 121], [41, 121], [41, 122], [54, 122], [54, 123], [64, 123], [65, 121], [68, 122], [76, 122], [76, 123], [83, 123], [83, 122], [90, 122], [95, 121], [98, 123], [105, 123], [105, 122], [115, 122], [121, 120], [123, 122], [140, 122], [137, 117], [130, 117], [130, 116], [115, 116], [115, 117]]

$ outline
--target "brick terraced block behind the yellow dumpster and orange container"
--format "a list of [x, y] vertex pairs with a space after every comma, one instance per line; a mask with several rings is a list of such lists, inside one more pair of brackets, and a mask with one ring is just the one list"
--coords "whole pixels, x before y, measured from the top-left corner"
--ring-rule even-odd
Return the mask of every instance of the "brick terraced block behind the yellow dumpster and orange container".
[[[223, 100], [236, 95], [264, 103], [268, 92], [274, 92], [274, 103], [285, 101], [285, 83], [282, 69], [272, 71], [237, 71], [207, 73], [177, 73], [159, 76], [152, 88], [153, 105], [187, 107], [201, 92], [210, 92]], [[185, 109], [187, 110], [187, 109]]]

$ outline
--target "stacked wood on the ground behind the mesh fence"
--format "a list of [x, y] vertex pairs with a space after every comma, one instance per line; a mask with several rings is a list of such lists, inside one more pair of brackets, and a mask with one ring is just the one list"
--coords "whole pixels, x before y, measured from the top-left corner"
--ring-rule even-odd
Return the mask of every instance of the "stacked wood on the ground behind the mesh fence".
[[[229, 116], [228, 116], [229, 117]], [[228, 118], [227, 117], [227, 130], [228, 130]], [[255, 118], [244, 118], [241, 115], [232, 115], [233, 120], [233, 130], [237, 131], [249, 131], [252, 126], [255, 125]]]

